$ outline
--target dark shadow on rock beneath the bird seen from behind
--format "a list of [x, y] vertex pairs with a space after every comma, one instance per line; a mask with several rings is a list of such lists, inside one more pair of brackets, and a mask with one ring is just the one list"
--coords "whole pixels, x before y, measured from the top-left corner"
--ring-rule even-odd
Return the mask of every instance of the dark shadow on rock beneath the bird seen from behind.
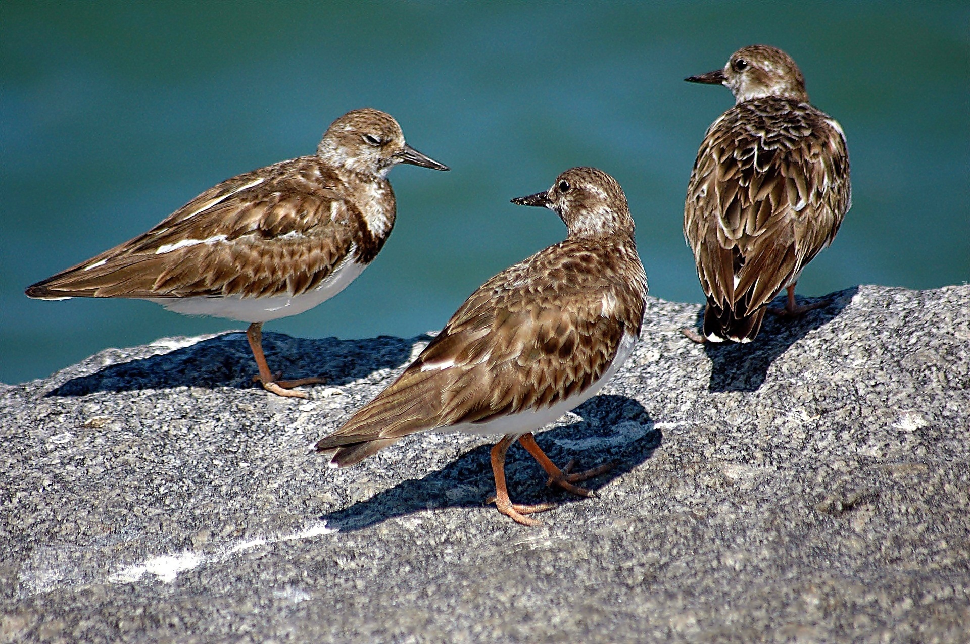
[[[704, 351], [711, 359], [710, 391], [757, 391], [767, 377], [768, 368], [789, 350], [795, 342], [805, 337], [809, 331], [831, 322], [851, 302], [858, 287], [845, 291], [829, 293], [824, 297], [798, 298], [800, 304], [828, 300], [823, 308], [809, 311], [798, 318], [776, 316], [768, 313], [758, 337], [752, 342], [737, 344], [733, 342], [704, 343]], [[784, 291], [783, 291], [784, 292]], [[776, 308], [785, 305], [785, 295], [772, 302]], [[703, 307], [697, 315], [698, 328], [703, 325]]]

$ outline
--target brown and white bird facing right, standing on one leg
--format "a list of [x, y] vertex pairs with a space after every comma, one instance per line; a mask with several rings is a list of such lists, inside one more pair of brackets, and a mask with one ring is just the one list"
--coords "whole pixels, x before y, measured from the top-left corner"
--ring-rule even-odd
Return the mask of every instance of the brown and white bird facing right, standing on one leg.
[[342, 291], [394, 227], [397, 164], [448, 169], [404, 142], [390, 114], [354, 109], [316, 154], [226, 179], [146, 233], [27, 288], [39, 299], [133, 297], [170, 311], [250, 322], [263, 386], [281, 396], [319, 378], [279, 381], [263, 322], [295, 316]]

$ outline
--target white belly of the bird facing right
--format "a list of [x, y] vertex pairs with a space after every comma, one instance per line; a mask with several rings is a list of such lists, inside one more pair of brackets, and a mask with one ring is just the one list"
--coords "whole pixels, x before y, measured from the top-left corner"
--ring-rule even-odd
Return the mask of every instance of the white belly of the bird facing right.
[[156, 297], [146, 298], [161, 304], [169, 311], [186, 316], [212, 316], [240, 322], [269, 322], [309, 311], [347, 288], [367, 268], [366, 263], [343, 261], [327, 279], [313, 289], [299, 295], [271, 295], [269, 297]]

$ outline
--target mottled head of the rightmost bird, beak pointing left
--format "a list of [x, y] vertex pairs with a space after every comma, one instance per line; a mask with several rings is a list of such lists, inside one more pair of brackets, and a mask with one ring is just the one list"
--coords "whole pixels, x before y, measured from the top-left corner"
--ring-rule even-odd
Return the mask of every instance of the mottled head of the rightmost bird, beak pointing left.
[[724, 69], [684, 80], [724, 85], [734, 95], [735, 105], [769, 96], [808, 103], [801, 70], [791, 56], [773, 46], [742, 47], [731, 54]]

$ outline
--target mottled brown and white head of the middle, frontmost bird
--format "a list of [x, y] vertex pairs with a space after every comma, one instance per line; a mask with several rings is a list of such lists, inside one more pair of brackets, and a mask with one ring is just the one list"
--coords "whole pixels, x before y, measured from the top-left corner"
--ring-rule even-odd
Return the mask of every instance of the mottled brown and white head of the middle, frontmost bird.
[[512, 203], [554, 210], [566, 224], [569, 237], [633, 234], [627, 196], [616, 179], [601, 169], [567, 169], [549, 190], [517, 197]]

